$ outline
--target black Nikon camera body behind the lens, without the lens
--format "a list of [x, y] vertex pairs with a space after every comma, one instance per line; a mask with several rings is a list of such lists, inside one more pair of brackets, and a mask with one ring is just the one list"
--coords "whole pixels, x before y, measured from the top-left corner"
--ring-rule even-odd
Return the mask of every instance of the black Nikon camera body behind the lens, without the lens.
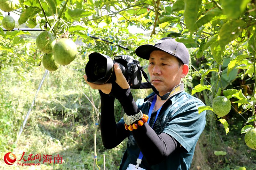
[[134, 60], [134, 58], [130, 55], [117, 55], [115, 56], [114, 61], [119, 64], [119, 67], [121, 68], [121, 70], [122, 70], [122, 66], [124, 66], [125, 69], [127, 70], [126, 75], [124, 75], [124, 77], [126, 78], [131, 89], [139, 89], [141, 86], [141, 80], [142, 80], [141, 72], [139, 69], [140, 62], [137, 60]]

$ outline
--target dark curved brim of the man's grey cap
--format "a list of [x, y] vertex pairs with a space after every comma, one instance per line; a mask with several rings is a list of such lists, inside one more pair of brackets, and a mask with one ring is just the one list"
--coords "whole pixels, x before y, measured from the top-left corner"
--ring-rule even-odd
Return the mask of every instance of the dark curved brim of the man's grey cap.
[[[154, 45], [151, 45], [151, 44], [144, 44], [144, 45], [141, 45], [139, 46], [138, 48], [135, 49], [135, 54], [138, 55], [140, 58], [143, 58], [143, 59], [146, 59], [148, 60], [149, 59], [149, 56], [150, 56], [150, 53], [154, 50], [160, 50], [160, 51], [164, 51], [170, 55], [173, 55], [175, 57], [178, 57], [177, 55], [175, 54], [172, 54], [168, 51], [165, 51], [161, 48], [158, 48]], [[179, 57], [178, 57], [179, 58]]]

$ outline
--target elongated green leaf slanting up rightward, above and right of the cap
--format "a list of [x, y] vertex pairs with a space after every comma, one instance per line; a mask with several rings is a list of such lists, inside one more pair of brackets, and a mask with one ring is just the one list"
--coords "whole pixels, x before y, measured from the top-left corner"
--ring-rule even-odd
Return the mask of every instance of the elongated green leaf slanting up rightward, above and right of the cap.
[[196, 21], [195, 29], [210, 22], [213, 19], [217, 19], [217, 17], [220, 16], [221, 14], [222, 14], [222, 11], [219, 8], [213, 8], [212, 10], [207, 11], [202, 18]]

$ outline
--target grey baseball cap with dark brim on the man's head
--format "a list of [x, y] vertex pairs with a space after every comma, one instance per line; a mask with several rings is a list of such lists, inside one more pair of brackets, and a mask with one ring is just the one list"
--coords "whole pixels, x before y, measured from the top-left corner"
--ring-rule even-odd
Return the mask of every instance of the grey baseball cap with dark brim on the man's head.
[[136, 48], [135, 54], [140, 58], [149, 59], [150, 53], [154, 50], [161, 50], [179, 58], [184, 64], [189, 63], [189, 53], [186, 46], [175, 41], [174, 38], [165, 37], [157, 41], [155, 45], [144, 44]]

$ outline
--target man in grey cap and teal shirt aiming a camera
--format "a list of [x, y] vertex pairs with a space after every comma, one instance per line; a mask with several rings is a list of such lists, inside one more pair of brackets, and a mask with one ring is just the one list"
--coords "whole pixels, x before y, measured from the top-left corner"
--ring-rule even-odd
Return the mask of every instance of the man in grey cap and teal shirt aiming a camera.
[[[154, 46], [142, 45], [135, 53], [149, 61], [150, 81], [159, 96], [153, 92], [135, 104], [129, 84], [117, 64], [114, 65], [116, 82], [103, 85], [87, 82], [93, 89], [100, 89], [102, 142], [111, 149], [128, 137], [120, 165], [122, 170], [189, 169], [196, 142], [205, 126], [206, 111], [198, 114], [198, 107], [205, 106], [204, 103], [186, 93], [181, 81], [188, 73], [188, 50], [183, 43], [167, 37]], [[162, 100], [166, 93], [168, 98]], [[115, 98], [125, 112], [124, 118], [117, 123]], [[143, 117], [141, 112], [149, 115], [150, 120], [137, 126]]]

